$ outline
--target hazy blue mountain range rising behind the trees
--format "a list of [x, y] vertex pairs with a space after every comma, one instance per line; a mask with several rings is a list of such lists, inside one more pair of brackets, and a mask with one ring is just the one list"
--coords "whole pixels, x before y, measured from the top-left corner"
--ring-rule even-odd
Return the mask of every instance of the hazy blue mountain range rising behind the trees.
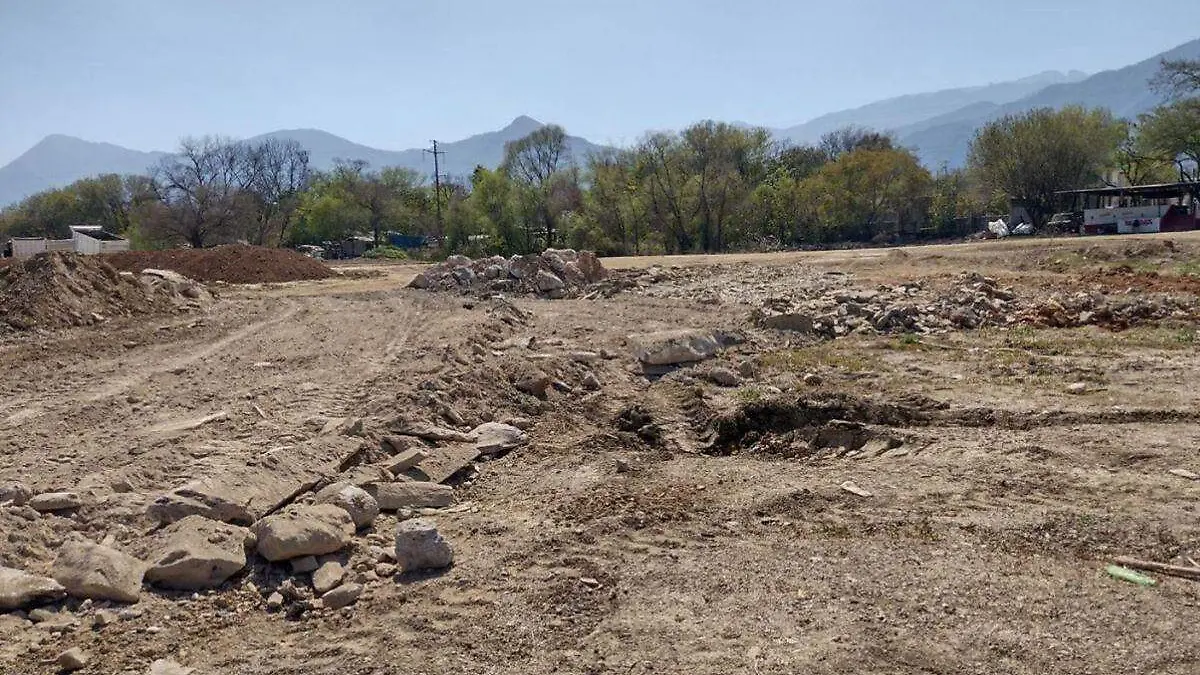
[[[847, 125], [876, 129], [892, 132], [902, 145], [913, 148], [930, 168], [943, 163], [959, 167], [966, 162], [967, 147], [976, 130], [989, 121], [1012, 113], [1068, 104], [1106, 107], [1117, 117], [1132, 119], [1160, 102], [1148, 86], [1148, 80], [1158, 72], [1159, 61], [1198, 58], [1200, 40], [1193, 40], [1144, 61], [1092, 76], [1079, 71], [1048, 71], [1013, 82], [899, 96], [770, 131], [781, 141], [812, 143], [823, 133]], [[503, 159], [506, 142], [540, 126], [541, 123], [533, 118], [520, 117], [498, 131], [440, 143], [439, 149], [445, 151], [442, 173], [466, 177], [479, 165], [496, 167]], [[314, 129], [272, 131], [247, 141], [269, 137], [299, 142], [308, 150], [311, 165], [319, 169], [326, 169], [341, 159], [365, 160], [373, 167], [409, 167], [426, 175], [433, 174], [432, 159], [419, 148], [370, 148]], [[569, 137], [568, 143], [572, 156], [578, 160], [601, 149], [575, 136]], [[0, 207], [88, 175], [143, 173], [163, 156], [167, 153], [144, 153], [110, 143], [52, 135], [0, 167]]]

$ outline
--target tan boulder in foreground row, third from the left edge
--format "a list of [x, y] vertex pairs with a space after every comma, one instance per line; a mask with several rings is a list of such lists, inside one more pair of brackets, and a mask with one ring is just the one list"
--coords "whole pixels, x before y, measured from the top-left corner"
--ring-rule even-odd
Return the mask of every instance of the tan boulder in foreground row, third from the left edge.
[[158, 533], [146, 580], [164, 589], [215, 589], [246, 567], [245, 527], [190, 515]]

